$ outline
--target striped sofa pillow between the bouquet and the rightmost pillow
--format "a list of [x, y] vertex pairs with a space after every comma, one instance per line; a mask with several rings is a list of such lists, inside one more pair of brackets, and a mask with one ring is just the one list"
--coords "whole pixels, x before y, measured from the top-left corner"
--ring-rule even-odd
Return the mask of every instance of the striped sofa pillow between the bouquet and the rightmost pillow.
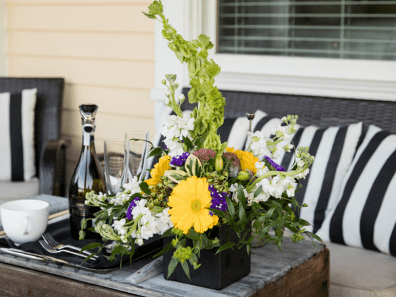
[[[315, 156], [310, 173], [300, 180], [303, 187], [296, 192], [297, 201], [308, 204], [296, 213], [296, 216], [313, 224], [306, 227], [308, 231], [316, 233], [325, 220], [326, 211], [337, 203], [339, 189], [359, 144], [362, 126], [361, 122], [325, 129], [308, 126], [299, 128], [294, 134], [294, 146], [308, 146], [310, 154]], [[293, 156], [292, 150], [276, 161], [290, 170]]]

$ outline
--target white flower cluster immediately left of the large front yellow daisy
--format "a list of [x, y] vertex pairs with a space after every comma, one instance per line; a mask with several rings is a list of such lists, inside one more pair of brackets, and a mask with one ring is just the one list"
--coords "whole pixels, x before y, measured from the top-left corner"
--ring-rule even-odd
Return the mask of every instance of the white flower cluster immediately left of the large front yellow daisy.
[[137, 230], [132, 232], [132, 238], [136, 238], [138, 245], [143, 245], [144, 239], [151, 238], [154, 234], [162, 235], [173, 227], [168, 214], [169, 207], [156, 214], [146, 207], [146, 202], [146, 199], [141, 199], [132, 209], [132, 219], [137, 219], [139, 215], [143, 215], [139, 220]]

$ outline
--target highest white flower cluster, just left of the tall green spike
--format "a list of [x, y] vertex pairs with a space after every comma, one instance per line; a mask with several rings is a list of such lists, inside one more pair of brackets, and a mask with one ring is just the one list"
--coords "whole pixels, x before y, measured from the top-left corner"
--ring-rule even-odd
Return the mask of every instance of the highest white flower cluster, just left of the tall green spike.
[[168, 115], [165, 118], [161, 134], [165, 137], [163, 141], [167, 146], [170, 158], [184, 153], [182, 148], [183, 136], [192, 139], [190, 131], [194, 129], [194, 117], [190, 114], [184, 114], [183, 117], [177, 115]]

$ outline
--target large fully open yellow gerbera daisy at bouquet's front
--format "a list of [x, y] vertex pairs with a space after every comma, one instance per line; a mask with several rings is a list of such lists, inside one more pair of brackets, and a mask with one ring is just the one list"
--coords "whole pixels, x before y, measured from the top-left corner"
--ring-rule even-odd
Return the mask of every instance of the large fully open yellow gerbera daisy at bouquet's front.
[[209, 214], [211, 195], [206, 177], [187, 177], [173, 188], [169, 197], [168, 214], [175, 228], [187, 234], [194, 226], [197, 233], [204, 233], [219, 222], [219, 217]]

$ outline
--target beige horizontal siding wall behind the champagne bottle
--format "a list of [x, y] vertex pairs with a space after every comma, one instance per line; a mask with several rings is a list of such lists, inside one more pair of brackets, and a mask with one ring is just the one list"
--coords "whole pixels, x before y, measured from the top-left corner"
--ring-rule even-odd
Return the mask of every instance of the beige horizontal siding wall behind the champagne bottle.
[[66, 79], [62, 137], [67, 179], [81, 150], [83, 103], [98, 105], [95, 146], [146, 129], [154, 136], [154, 21], [151, 0], [9, 0], [8, 76]]

